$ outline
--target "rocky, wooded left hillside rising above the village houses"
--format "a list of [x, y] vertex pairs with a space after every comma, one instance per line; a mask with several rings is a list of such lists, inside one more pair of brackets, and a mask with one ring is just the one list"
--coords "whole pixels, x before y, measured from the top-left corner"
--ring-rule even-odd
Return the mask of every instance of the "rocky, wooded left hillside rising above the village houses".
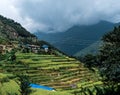
[[[49, 43], [39, 40], [34, 34], [31, 34], [24, 27], [22, 27], [19, 23], [15, 22], [12, 19], [3, 17], [0, 15], [0, 45], [1, 47], [11, 45], [20, 46], [24, 45], [36, 45], [43, 46], [48, 45], [51, 49], [56, 50]], [[14, 48], [14, 47], [13, 47]]]

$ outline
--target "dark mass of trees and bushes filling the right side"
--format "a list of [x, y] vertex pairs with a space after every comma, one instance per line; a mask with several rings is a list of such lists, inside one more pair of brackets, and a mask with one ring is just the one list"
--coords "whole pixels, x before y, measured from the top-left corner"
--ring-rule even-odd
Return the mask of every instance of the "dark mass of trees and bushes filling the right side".
[[[104, 87], [95, 88], [97, 95], [119, 95], [120, 93], [120, 27], [105, 34], [102, 38], [103, 45], [97, 55], [88, 54], [80, 60], [87, 67], [98, 68]], [[107, 86], [106, 86], [107, 85]], [[91, 93], [91, 91], [88, 89]], [[91, 94], [92, 95], [92, 94]]]

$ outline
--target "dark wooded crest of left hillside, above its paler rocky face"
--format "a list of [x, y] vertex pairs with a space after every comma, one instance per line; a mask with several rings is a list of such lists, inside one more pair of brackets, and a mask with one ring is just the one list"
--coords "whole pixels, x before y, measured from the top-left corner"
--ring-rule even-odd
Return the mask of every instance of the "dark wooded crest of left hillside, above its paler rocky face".
[[28, 32], [19, 23], [1, 15], [0, 15], [0, 25], [1, 25], [1, 29], [3, 29], [1, 30], [1, 32], [5, 32], [5, 31], [16, 32], [21, 37], [35, 37], [35, 35]]

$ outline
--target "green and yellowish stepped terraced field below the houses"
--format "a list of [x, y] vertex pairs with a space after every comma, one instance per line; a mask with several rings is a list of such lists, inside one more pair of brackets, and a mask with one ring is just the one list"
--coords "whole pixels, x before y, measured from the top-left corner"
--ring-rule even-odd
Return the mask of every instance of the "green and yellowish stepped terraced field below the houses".
[[[58, 90], [77, 89], [98, 81], [97, 74], [88, 70], [74, 58], [55, 55], [17, 53], [17, 64], [7, 64], [11, 73], [24, 73], [33, 83], [47, 85]], [[72, 90], [71, 90], [72, 91]]]

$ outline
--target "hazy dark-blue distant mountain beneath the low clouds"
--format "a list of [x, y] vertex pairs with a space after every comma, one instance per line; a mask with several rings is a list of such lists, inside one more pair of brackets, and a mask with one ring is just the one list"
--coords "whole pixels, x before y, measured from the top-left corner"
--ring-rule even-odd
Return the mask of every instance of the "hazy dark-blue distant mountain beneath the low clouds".
[[35, 35], [51, 43], [56, 48], [68, 55], [74, 55], [80, 50], [90, 46], [94, 42], [113, 29], [114, 24], [107, 21], [100, 21], [94, 25], [73, 26], [65, 32], [41, 33], [37, 31]]

